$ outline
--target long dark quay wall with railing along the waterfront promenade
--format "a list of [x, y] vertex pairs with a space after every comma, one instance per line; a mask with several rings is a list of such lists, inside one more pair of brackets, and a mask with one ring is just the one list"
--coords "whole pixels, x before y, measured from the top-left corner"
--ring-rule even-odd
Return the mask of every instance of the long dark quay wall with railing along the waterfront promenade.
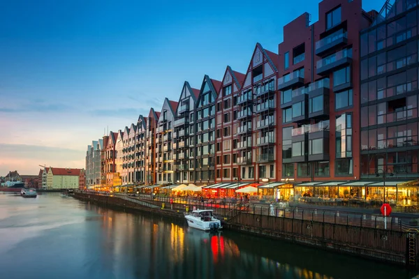
[[[134, 209], [168, 218], [184, 218], [185, 211], [213, 209], [223, 227], [271, 239], [342, 252], [381, 262], [419, 267], [417, 216], [384, 219], [365, 213], [321, 209], [280, 208], [260, 204], [214, 203], [199, 199], [75, 192], [74, 197], [104, 206]], [[172, 204], [170, 204], [172, 199]]]

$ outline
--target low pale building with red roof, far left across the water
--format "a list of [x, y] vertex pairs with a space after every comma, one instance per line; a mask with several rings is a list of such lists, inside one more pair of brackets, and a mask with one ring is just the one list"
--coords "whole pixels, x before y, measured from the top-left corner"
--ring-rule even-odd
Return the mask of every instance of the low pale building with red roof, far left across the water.
[[49, 167], [47, 190], [79, 188], [81, 169]]

